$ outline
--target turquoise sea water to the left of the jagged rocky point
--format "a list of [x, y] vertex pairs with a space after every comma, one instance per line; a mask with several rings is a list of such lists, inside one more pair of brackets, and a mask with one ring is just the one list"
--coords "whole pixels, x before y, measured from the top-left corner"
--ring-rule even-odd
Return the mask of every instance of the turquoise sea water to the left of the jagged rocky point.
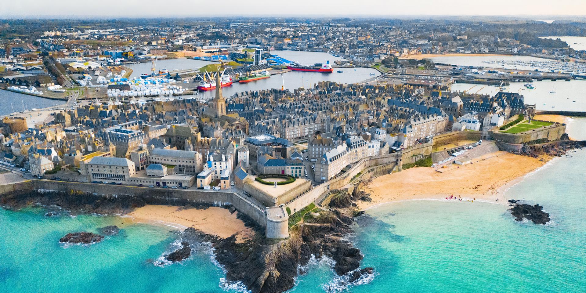
[[97, 233], [122, 219], [44, 213], [0, 210], [0, 292], [223, 292], [207, 247], [181, 264], [147, 262], [172, 250], [176, 235], [165, 227], [132, 224], [101, 243], [64, 247], [58, 241], [71, 231]]

